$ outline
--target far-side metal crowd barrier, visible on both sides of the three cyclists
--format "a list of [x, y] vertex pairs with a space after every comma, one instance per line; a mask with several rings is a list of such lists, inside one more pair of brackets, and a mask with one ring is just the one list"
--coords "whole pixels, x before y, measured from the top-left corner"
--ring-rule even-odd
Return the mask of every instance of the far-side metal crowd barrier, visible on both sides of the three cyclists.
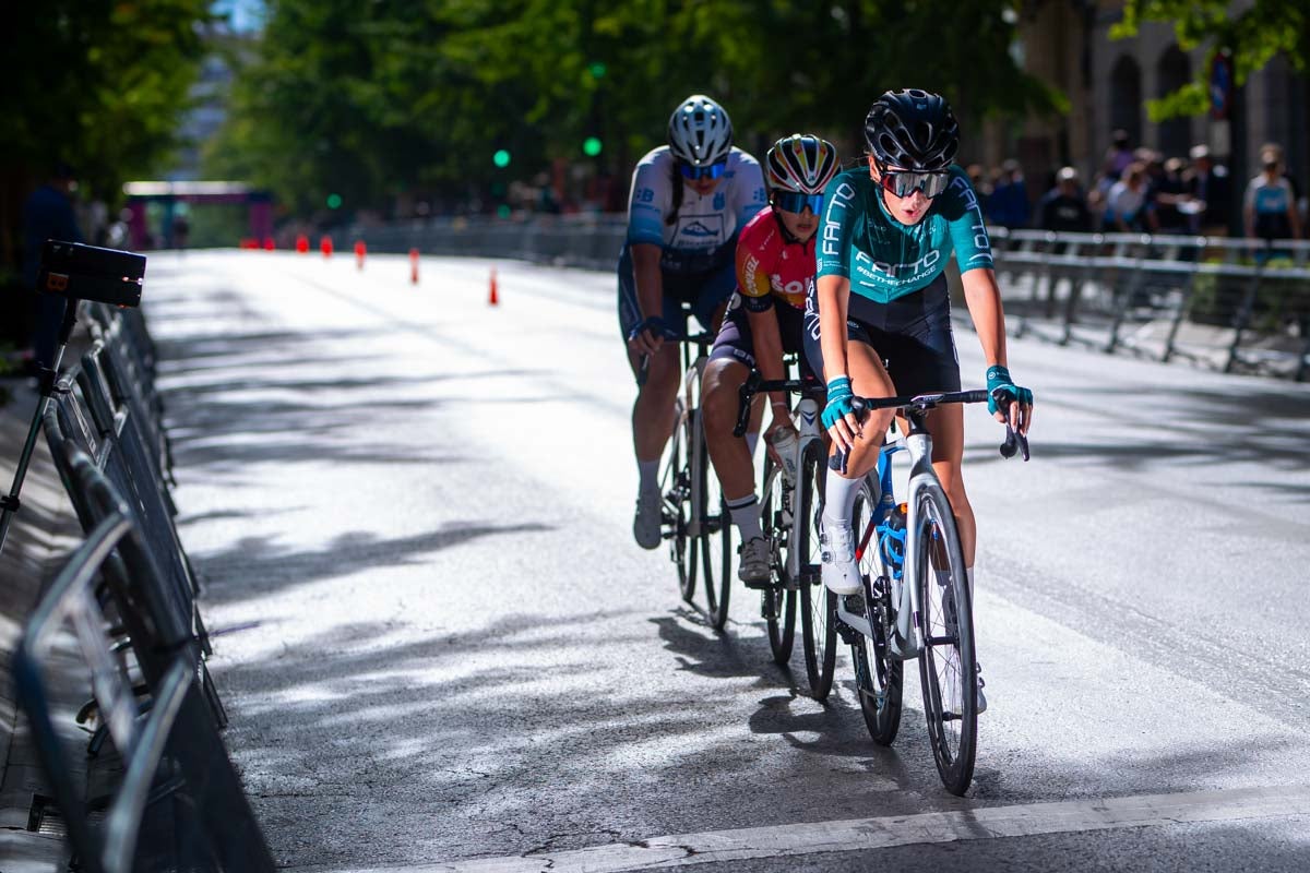
[[[626, 216], [432, 219], [356, 226], [369, 250], [520, 258], [613, 270]], [[1229, 373], [1310, 372], [1310, 242], [990, 230], [1019, 334], [1188, 359]]]

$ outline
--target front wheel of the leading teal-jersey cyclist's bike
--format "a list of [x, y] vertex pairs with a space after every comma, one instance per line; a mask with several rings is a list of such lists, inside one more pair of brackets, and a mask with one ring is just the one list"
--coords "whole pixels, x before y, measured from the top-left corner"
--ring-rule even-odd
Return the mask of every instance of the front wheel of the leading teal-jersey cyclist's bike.
[[[926, 484], [918, 491], [916, 504], [918, 530], [912, 533], [914, 584], [920, 596], [918, 630], [924, 640], [918, 660], [924, 715], [937, 772], [946, 791], [959, 796], [968, 791], [973, 780], [977, 754], [972, 603], [964, 575], [964, 552], [946, 492], [935, 483]], [[942, 569], [947, 572], [945, 582], [938, 576]]]

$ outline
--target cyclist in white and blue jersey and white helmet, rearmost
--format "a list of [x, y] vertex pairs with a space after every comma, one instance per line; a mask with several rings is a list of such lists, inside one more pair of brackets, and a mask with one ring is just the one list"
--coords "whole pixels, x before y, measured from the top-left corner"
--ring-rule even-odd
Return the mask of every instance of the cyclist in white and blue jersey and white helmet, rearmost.
[[660, 543], [659, 459], [673, 431], [681, 376], [676, 340], [686, 334], [681, 304], [717, 330], [736, 288], [738, 232], [765, 205], [760, 164], [732, 147], [732, 122], [693, 94], [668, 122], [668, 145], [633, 171], [627, 240], [618, 259], [618, 325], [638, 381], [633, 448], [639, 486], [633, 535]]

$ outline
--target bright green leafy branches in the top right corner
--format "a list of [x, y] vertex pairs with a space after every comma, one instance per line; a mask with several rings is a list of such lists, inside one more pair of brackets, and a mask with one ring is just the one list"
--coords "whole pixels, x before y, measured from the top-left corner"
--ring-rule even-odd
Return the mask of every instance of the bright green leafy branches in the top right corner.
[[[1233, 4], [1227, 0], [1127, 0], [1124, 18], [1110, 35], [1115, 39], [1136, 37], [1146, 21], [1174, 22], [1178, 46], [1184, 51], [1200, 46], [1226, 50], [1233, 58], [1238, 85], [1263, 69], [1275, 55], [1282, 55], [1301, 72], [1310, 69], [1310, 4], [1306, 0], [1255, 0], [1239, 14], [1233, 14]], [[1209, 65], [1204, 64], [1196, 81], [1148, 101], [1151, 120], [1208, 111], [1208, 76]]]

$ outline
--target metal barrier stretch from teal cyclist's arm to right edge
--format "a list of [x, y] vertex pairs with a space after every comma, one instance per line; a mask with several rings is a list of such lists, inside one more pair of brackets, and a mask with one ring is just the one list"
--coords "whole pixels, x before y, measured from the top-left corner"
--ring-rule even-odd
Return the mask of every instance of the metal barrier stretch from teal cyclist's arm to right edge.
[[1019, 334], [1303, 381], [1310, 242], [1011, 230], [994, 236]]

